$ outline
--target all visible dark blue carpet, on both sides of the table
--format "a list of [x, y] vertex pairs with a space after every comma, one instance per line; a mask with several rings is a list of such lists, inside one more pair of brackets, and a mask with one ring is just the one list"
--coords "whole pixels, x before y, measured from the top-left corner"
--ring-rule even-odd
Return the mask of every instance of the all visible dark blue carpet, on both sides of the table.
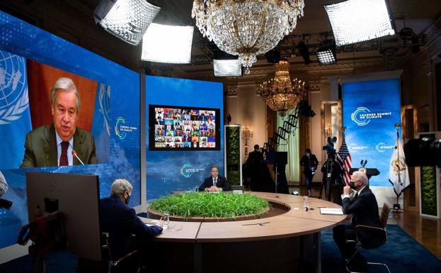
[[[398, 225], [387, 225], [388, 241], [377, 250], [362, 250], [370, 262], [385, 262], [392, 273], [441, 272], [441, 260], [432, 255], [420, 243], [407, 235]], [[346, 272], [343, 258], [333, 242], [332, 230], [321, 233], [321, 261], [323, 273]], [[69, 252], [57, 252], [47, 256], [47, 273], [74, 273], [76, 259]], [[370, 266], [370, 272], [382, 273], [386, 269]], [[29, 256], [0, 264], [1, 273], [31, 272]], [[39, 270], [37, 271], [39, 272]], [[207, 272], [209, 273], [209, 272]]]

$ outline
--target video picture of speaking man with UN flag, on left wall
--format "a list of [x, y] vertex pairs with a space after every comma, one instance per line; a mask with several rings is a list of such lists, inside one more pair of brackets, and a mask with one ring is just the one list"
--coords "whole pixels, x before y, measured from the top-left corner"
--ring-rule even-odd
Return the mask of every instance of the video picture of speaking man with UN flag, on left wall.
[[4, 50], [0, 56], [0, 169], [108, 162], [110, 86]]

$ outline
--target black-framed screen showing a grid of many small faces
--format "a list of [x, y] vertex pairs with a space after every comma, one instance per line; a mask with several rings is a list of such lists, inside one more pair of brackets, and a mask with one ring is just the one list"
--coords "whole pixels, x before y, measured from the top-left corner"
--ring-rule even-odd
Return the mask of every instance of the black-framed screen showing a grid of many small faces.
[[149, 150], [219, 150], [219, 108], [149, 105]]

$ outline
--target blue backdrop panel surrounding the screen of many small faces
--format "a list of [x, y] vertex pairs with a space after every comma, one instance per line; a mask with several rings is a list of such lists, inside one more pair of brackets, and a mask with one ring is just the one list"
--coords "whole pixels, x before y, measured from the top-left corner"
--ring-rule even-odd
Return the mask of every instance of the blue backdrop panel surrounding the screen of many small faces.
[[146, 109], [149, 104], [220, 108], [220, 116], [216, 117], [216, 121], [221, 130], [221, 149], [149, 151], [147, 111], [147, 201], [170, 194], [173, 190], [195, 189], [210, 175], [211, 165], [218, 165], [219, 174], [224, 174], [224, 99], [221, 83], [147, 76]]

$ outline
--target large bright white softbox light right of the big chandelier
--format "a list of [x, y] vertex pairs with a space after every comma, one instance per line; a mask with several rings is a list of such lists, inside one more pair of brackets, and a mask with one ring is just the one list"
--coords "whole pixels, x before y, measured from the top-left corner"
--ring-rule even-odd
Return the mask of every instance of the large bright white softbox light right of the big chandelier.
[[336, 45], [359, 43], [394, 35], [387, 0], [348, 0], [324, 5]]

